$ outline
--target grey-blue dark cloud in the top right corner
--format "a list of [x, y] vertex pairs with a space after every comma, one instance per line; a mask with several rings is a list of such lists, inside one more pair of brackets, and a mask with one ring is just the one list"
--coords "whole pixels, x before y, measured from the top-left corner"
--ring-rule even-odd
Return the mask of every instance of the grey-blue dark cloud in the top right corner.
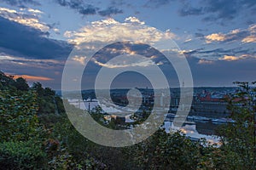
[[[177, 13], [180, 16], [201, 15], [203, 21], [218, 22], [224, 25], [224, 21], [233, 20], [236, 17], [248, 16], [249, 22], [255, 22], [255, 0], [148, 0], [143, 5], [145, 8], [159, 8], [169, 3], [180, 3]], [[252, 17], [251, 17], [252, 16]]]

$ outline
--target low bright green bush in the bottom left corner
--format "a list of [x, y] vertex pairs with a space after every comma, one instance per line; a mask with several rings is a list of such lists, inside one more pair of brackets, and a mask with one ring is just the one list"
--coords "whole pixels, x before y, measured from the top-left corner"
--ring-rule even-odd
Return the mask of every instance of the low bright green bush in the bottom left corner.
[[46, 154], [33, 140], [0, 144], [1, 169], [43, 169]]

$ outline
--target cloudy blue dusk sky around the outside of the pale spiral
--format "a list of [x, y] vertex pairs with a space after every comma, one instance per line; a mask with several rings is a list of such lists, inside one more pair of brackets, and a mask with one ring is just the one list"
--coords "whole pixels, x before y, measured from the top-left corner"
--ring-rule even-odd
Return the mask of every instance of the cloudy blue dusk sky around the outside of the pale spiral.
[[[255, 0], [2, 0], [0, 70], [61, 89], [64, 65], [79, 44], [143, 35], [150, 41], [172, 38], [189, 63], [195, 87], [253, 82], [255, 15]], [[83, 57], [73, 60], [84, 65]], [[165, 65], [160, 59], [154, 63]], [[90, 71], [105, 64], [95, 59]]]

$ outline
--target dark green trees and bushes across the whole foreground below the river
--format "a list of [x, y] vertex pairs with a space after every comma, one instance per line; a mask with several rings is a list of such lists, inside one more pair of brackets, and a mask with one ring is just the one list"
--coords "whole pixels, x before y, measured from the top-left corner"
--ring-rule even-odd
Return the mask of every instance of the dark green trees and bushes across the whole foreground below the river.
[[[23, 78], [0, 72], [1, 169], [256, 169], [256, 90], [239, 82], [241, 90], [230, 96], [230, 117], [218, 133], [222, 145], [192, 142], [183, 133], [158, 130], [139, 144], [105, 147], [85, 139], [69, 122], [63, 101], [55, 91], [35, 82], [28, 88]], [[67, 102], [67, 101], [66, 101]], [[79, 118], [81, 111], [66, 108]], [[106, 122], [100, 108], [90, 111], [96, 122], [112, 129], [128, 126]], [[134, 127], [148, 117], [147, 112]], [[75, 119], [74, 118], [74, 119]], [[42, 125], [43, 123], [44, 125]]]

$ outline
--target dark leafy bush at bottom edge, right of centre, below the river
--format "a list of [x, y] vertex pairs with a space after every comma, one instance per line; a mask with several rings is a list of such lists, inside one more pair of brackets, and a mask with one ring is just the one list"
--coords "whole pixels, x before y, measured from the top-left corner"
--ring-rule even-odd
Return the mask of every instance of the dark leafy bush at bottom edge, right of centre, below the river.
[[137, 169], [196, 169], [200, 150], [200, 143], [162, 129], [142, 143], [124, 149]]

